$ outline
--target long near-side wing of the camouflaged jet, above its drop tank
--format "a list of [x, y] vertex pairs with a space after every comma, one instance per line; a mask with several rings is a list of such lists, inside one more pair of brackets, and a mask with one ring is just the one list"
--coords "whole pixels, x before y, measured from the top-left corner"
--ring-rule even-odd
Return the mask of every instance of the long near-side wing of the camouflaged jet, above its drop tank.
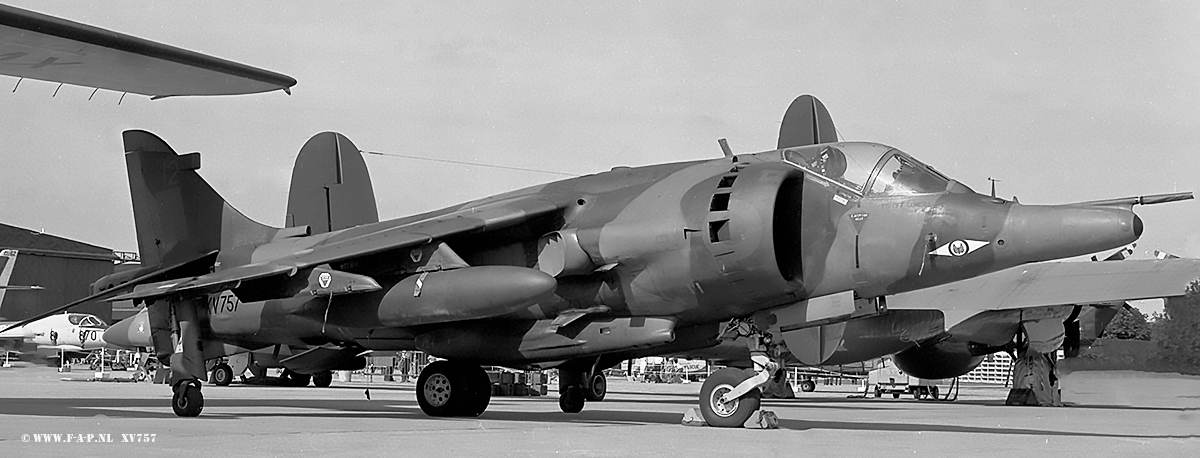
[[419, 247], [434, 240], [455, 235], [488, 231], [520, 224], [562, 209], [570, 199], [545, 195], [521, 197], [469, 207], [398, 225], [356, 237], [334, 241], [304, 249], [293, 255], [268, 263], [247, 264], [182, 281], [161, 282], [139, 287], [130, 294], [110, 296], [107, 301], [139, 300], [182, 293], [205, 294], [236, 288], [240, 282], [287, 275], [323, 264], [340, 263], [370, 254]]

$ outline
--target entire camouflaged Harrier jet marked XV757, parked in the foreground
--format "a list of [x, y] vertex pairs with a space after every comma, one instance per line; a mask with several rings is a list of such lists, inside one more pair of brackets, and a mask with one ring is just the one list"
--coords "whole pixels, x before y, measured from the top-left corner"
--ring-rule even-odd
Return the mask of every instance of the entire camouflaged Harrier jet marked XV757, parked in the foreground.
[[[310, 234], [233, 210], [196, 174], [198, 153], [146, 132], [124, 138], [139, 248], [155, 267], [104, 295], [149, 303], [160, 351], [179, 329], [179, 415], [203, 406], [208, 297], [227, 290], [356, 330], [367, 349], [412, 339], [446, 358], [418, 380], [427, 414], [482, 412], [481, 363], [558, 368], [560, 406], [578, 411], [600, 369], [710, 344], [731, 319], [770, 313], [786, 333], [884, 314], [889, 295], [1120, 247], [1142, 229], [1132, 205], [1021, 205], [889, 146], [828, 143], [616, 168]], [[758, 382], [732, 369], [709, 380], [706, 420], [742, 424]]]

